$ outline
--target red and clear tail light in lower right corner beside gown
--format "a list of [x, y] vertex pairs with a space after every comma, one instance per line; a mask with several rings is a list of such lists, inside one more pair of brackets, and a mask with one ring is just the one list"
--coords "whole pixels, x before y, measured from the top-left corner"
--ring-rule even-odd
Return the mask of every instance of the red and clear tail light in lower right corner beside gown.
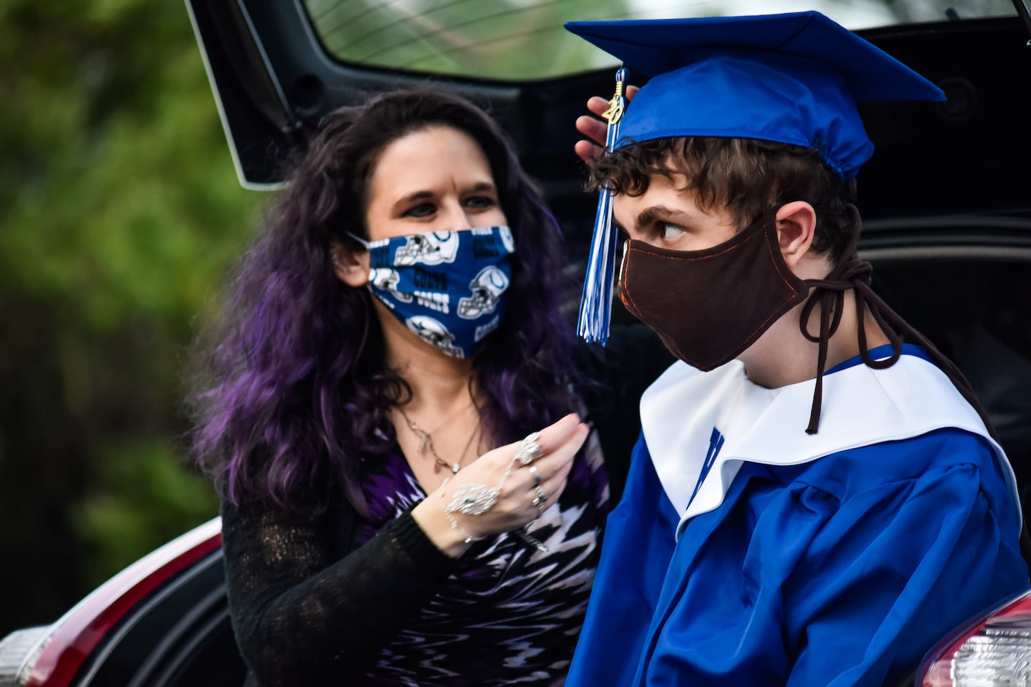
[[921, 661], [921, 687], [1031, 685], [1031, 591], [942, 640]]

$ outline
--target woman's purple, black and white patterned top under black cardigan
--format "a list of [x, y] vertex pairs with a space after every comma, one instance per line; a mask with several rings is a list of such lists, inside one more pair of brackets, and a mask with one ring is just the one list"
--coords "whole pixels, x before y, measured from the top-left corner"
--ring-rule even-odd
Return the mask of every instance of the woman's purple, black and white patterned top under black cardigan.
[[[359, 519], [356, 546], [427, 497], [400, 450], [366, 460], [362, 482], [372, 517]], [[593, 435], [559, 502], [530, 524], [548, 552], [509, 534], [474, 543], [437, 595], [380, 651], [364, 684], [561, 685], [607, 511], [608, 480]]]

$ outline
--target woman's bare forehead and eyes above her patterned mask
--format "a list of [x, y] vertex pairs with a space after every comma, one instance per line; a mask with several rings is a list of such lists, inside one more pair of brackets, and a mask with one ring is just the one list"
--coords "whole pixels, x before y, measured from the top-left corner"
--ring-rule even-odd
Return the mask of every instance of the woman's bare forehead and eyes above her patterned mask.
[[487, 156], [468, 134], [442, 125], [384, 148], [365, 219], [370, 241], [508, 224]]

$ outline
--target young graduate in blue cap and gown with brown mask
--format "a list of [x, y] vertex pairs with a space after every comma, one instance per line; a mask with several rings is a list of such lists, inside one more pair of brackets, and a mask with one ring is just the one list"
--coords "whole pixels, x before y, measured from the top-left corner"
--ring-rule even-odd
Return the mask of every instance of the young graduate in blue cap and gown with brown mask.
[[817, 12], [567, 28], [652, 76], [592, 179], [680, 362], [566, 684], [894, 684], [1028, 584], [1006, 456], [856, 253], [856, 103], [943, 95]]

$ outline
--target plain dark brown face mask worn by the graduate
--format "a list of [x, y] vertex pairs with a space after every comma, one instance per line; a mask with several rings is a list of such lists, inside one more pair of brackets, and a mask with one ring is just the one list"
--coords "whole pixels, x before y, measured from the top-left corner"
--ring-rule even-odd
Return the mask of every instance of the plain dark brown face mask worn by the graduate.
[[740, 355], [807, 294], [780, 254], [773, 212], [705, 250], [627, 241], [620, 268], [623, 304], [699, 370]]

